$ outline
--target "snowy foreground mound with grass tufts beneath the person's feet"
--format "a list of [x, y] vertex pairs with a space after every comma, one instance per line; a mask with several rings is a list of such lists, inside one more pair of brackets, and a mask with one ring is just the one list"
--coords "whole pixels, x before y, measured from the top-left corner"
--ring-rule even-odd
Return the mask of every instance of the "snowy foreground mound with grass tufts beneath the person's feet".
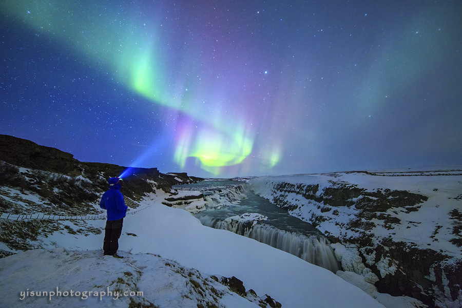
[[[127, 307], [132, 297], [160, 307], [197, 308], [197, 302], [215, 302], [214, 296], [219, 299], [224, 293], [219, 302], [225, 306], [258, 307], [209, 276], [151, 254], [119, 260], [100, 251], [36, 249], [1, 259], [0, 266], [0, 290], [11, 295], [3, 296], [2, 304], [8, 306]], [[56, 296], [59, 292], [62, 296]]]

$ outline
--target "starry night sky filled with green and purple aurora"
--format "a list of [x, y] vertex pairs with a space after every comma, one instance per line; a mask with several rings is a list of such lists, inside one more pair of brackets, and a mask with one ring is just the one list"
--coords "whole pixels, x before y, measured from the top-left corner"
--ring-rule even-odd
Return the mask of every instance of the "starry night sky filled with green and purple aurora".
[[462, 164], [460, 1], [3, 0], [0, 133], [202, 177]]

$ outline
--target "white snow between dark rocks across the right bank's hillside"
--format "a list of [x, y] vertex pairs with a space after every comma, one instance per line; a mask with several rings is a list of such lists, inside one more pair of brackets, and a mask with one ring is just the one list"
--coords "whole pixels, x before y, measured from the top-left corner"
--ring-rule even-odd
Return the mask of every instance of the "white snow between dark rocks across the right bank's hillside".
[[[415, 248], [432, 249], [435, 252], [448, 255], [451, 258], [448, 262], [452, 262], [453, 258], [460, 258], [460, 247], [451, 242], [451, 239], [456, 238], [456, 235], [453, 234], [453, 226], [457, 222], [449, 215], [453, 210], [462, 210], [460, 202], [462, 199], [462, 168], [460, 167], [440, 167], [436, 171], [435, 169], [422, 168], [268, 176], [250, 179], [248, 183], [251, 190], [257, 195], [271, 202], [282, 202], [284, 206], [291, 208], [289, 211], [291, 215], [307, 222], [315, 222], [316, 228], [323, 234], [338, 238], [343, 243], [354, 243], [367, 237], [372, 240], [373, 244], [381, 245], [382, 239], [390, 239], [393, 242], [405, 242]], [[427, 197], [428, 200], [416, 204], [410, 210], [406, 207], [392, 207], [383, 213], [378, 211], [377, 213], [382, 214], [382, 217], [394, 218], [394, 220], [387, 222], [385, 219], [368, 219], [374, 225], [371, 229], [361, 230], [360, 226], [356, 229], [349, 226], [352, 220], [361, 219], [361, 210], [358, 210], [355, 205], [350, 207], [329, 206], [323, 202], [306, 199], [303, 195], [305, 194], [304, 189], [308, 185], [318, 185], [316, 192], [318, 197], [323, 194], [326, 187], [343, 185], [343, 187], [354, 186], [369, 192], [384, 189], [405, 190], [422, 195], [424, 198]], [[351, 200], [357, 201], [357, 199]], [[329, 207], [331, 208], [329, 209]], [[339, 243], [331, 246], [335, 249], [334, 253], [336, 258], [341, 261], [343, 269], [351, 271], [348, 273], [337, 272], [339, 276], [364, 290], [373, 290], [370, 285], [364, 283], [374, 283], [378, 277], [362, 263], [358, 249], [365, 259], [365, 264], [377, 267], [380, 277], [394, 275], [400, 266], [405, 266], [391, 260], [388, 256], [381, 256], [380, 260], [376, 262], [376, 253], [371, 247], [366, 250], [355, 244], [352, 244], [353, 247], [345, 247]], [[444, 278], [442, 277], [443, 283], [445, 283]], [[430, 272], [428, 279], [435, 281], [434, 273]], [[446, 283], [449, 282], [446, 281]], [[449, 290], [449, 288], [447, 289]], [[443, 294], [435, 289], [436, 298], [451, 298], [448, 297], [448, 290], [445, 289], [443, 293], [446, 294]], [[438, 292], [441, 294], [438, 295]], [[392, 297], [376, 292], [368, 293], [388, 307], [422, 305], [418, 300], [409, 297]], [[441, 303], [441, 306], [459, 307], [460, 299], [462, 299], [462, 294], [458, 300]]]

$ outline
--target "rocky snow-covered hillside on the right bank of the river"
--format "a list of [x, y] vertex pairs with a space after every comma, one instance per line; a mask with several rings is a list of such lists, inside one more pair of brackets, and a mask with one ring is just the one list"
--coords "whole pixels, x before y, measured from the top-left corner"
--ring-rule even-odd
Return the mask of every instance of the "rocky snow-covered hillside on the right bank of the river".
[[337, 242], [343, 270], [374, 274], [380, 292], [462, 306], [460, 168], [261, 177], [249, 184]]

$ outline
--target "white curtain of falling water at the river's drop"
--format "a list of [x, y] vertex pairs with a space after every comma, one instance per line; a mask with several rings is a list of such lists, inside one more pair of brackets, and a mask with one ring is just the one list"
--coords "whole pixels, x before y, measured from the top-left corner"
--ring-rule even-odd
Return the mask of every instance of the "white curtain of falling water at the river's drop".
[[332, 249], [329, 240], [325, 237], [305, 236], [267, 224], [256, 224], [253, 221], [227, 222], [209, 216], [200, 216], [198, 218], [204, 226], [228, 230], [252, 238], [297, 256], [306, 262], [329, 269], [331, 272], [336, 273], [340, 269], [334, 255], [334, 249]]

